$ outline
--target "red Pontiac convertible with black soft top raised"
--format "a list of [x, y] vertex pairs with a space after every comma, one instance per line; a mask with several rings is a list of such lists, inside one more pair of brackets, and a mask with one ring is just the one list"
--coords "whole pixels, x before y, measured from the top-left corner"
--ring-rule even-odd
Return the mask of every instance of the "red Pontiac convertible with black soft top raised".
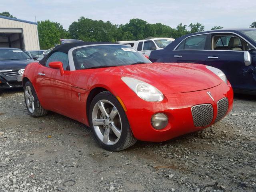
[[221, 70], [151, 63], [133, 48], [109, 42], [61, 44], [39, 64], [28, 64], [22, 82], [31, 116], [50, 110], [82, 122], [112, 151], [207, 128], [233, 104]]

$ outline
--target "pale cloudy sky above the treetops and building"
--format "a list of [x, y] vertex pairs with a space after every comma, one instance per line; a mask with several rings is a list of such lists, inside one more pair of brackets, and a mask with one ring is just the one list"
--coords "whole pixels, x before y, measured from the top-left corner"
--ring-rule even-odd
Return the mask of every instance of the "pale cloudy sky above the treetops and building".
[[172, 28], [202, 23], [205, 30], [249, 27], [256, 21], [256, 0], [5, 0], [0, 12], [28, 21], [51, 20], [65, 29], [84, 16], [92, 20], [126, 24], [140, 18]]

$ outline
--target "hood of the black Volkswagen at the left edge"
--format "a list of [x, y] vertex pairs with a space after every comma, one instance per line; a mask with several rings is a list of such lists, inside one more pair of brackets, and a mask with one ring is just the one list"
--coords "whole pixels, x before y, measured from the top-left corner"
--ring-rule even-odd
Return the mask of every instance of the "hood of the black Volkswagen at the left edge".
[[0, 60], [0, 70], [24, 69], [27, 64], [35, 62], [34, 60]]

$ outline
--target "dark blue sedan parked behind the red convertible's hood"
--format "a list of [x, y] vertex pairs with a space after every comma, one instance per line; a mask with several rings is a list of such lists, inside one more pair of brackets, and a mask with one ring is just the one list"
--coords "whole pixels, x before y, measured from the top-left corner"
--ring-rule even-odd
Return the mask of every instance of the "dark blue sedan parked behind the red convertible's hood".
[[235, 92], [256, 94], [256, 28], [221, 29], [188, 34], [162, 50], [152, 62], [198, 63], [222, 70]]

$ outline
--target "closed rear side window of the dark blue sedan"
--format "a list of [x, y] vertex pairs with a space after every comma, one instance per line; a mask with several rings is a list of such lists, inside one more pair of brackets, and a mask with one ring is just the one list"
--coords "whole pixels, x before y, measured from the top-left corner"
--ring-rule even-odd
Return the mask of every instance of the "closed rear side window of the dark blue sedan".
[[178, 46], [177, 50], [204, 50], [207, 35], [188, 37]]

